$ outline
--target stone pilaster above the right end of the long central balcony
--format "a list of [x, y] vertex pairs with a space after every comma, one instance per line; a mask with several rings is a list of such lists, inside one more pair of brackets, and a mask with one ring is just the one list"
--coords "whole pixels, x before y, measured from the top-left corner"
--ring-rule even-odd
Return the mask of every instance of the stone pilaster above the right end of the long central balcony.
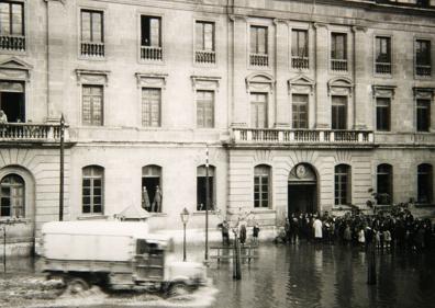
[[372, 129], [367, 27], [354, 26], [354, 129]]

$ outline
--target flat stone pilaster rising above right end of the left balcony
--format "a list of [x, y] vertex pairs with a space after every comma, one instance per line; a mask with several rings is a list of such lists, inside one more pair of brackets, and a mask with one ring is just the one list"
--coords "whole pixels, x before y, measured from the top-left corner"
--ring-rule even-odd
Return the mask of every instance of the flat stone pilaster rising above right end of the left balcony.
[[47, 122], [58, 122], [64, 101], [66, 10], [64, 0], [47, 3]]

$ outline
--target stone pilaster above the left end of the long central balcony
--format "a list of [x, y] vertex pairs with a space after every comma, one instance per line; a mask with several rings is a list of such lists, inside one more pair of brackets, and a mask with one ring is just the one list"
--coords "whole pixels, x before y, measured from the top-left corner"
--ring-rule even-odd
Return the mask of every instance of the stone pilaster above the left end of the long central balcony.
[[247, 65], [247, 23], [245, 16], [231, 15], [232, 36], [232, 126], [246, 127], [249, 122], [248, 95], [246, 93], [245, 72]]

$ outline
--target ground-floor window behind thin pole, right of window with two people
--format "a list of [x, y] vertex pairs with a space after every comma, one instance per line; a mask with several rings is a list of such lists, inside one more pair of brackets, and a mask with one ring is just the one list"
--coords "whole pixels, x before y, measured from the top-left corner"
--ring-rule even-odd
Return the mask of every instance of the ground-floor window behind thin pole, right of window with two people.
[[[215, 168], [209, 166], [209, 209], [214, 209], [215, 198], [214, 198], [214, 170]], [[197, 168], [197, 210], [205, 210], [207, 204], [207, 168], [205, 166], [200, 166]]]

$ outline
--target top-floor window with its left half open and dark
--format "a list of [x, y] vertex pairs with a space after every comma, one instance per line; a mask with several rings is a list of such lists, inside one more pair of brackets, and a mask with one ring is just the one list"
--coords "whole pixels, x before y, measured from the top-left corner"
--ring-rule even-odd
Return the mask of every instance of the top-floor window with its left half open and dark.
[[161, 19], [141, 16], [141, 58], [161, 60]]

